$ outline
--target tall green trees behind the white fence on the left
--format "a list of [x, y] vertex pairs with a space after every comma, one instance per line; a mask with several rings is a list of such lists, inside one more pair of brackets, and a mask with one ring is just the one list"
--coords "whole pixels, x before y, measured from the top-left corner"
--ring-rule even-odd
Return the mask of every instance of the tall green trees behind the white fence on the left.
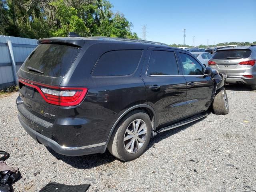
[[45, 38], [112, 36], [138, 38], [132, 23], [107, 0], [0, 0], [0, 34]]

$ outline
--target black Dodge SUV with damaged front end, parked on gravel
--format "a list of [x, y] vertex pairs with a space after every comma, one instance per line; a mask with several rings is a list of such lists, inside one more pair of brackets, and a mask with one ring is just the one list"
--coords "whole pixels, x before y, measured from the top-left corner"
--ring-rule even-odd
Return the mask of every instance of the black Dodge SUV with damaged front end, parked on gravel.
[[156, 134], [228, 113], [224, 78], [189, 52], [123, 38], [38, 40], [18, 71], [20, 123], [67, 156], [139, 157]]

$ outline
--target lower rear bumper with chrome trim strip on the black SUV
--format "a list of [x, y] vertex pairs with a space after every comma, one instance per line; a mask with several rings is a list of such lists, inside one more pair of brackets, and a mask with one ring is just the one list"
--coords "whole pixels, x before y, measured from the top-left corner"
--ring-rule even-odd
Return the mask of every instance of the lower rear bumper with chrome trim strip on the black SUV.
[[30, 128], [20, 117], [20, 114], [18, 114], [18, 119], [20, 120], [20, 124], [22, 124], [23, 128], [26, 130], [26, 132], [37, 142], [40, 144], [43, 144], [45, 146], [48, 146], [52, 148], [55, 152], [66, 155], [66, 156], [82, 156], [82, 155], [88, 155], [88, 154], [95, 154], [95, 153], [104, 153], [106, 148], [106, 142], [88, 145], [88, 146], [82, 146], [82, 147], [66, 147], [66, 146], [60, 146], [57, 142], [54, 140], [43, 136], [42, 134], [36, 132], [32, 128]]

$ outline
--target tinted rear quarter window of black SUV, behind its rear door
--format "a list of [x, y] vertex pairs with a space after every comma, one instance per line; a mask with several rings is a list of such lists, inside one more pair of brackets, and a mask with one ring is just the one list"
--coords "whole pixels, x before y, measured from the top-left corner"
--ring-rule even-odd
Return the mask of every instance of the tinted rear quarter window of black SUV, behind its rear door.
[[117, 50], [104, 53], [98, 60], [93, 76], [132, 74], [140, 61], [142, 50]]

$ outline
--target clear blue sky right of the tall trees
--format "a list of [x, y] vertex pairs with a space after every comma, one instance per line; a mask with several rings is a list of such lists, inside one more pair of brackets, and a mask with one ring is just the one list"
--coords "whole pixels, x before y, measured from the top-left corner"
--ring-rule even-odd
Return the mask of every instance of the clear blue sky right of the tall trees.
[[256, 0], [109, 0], [133, 23], [133, 32], [166, 44], [256, 41]]

